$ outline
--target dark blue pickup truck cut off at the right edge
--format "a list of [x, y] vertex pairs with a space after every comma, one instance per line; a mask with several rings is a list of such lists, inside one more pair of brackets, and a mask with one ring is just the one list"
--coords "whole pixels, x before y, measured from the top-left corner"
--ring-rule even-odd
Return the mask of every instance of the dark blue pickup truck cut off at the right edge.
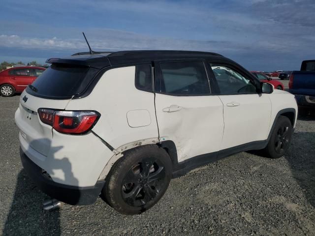
[[315, 60], [304, 60], [300, 71], [293, 71], [289, 81], [299, 108], [315, 109]]

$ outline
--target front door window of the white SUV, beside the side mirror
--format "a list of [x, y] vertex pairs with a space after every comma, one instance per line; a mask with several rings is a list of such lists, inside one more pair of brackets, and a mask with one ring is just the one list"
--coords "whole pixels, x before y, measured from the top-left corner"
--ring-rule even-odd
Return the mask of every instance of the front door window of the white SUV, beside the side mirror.
[[256, 92], [256, 87], [249, 79], [230, 67], [211, 64], [211, 68], [217, 79], [221, 94], [246, 94]]

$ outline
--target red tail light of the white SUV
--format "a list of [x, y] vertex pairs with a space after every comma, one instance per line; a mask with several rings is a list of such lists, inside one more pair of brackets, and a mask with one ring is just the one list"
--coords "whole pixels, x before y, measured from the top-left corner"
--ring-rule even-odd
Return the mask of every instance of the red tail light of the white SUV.
[[97, 122], [100, 114], [95, 111], [58, 111], [39, 108], [40, 120], [64, 134], [84, 134]]

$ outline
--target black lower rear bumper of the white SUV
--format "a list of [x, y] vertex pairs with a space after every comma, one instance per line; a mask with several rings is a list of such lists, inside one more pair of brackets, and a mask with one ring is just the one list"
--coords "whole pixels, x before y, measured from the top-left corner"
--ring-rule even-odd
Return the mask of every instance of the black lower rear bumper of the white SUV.
[[25, 172], [35, 185], [50, 197], [70, 205], [90, 205], [95, 203], [104, 186], [104, 181], [97, 181], [94, 186], [76, 187], [54, 182], [43, 169], [37, 166], [20, 148], [21, 161]]

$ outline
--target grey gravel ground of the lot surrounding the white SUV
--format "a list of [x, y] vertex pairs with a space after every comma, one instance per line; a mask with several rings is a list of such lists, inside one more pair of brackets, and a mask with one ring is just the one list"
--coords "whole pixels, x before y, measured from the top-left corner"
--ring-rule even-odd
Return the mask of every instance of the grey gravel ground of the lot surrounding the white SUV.
[[141, 215], [121, 215], [101, 199], [47, 212], [47, 196], [20, 163], [19, 97], [0, 97], [3, 235], [315, 235], [315, 116], [299, 117], [284, 157], [243, 152], [194, 170]]

